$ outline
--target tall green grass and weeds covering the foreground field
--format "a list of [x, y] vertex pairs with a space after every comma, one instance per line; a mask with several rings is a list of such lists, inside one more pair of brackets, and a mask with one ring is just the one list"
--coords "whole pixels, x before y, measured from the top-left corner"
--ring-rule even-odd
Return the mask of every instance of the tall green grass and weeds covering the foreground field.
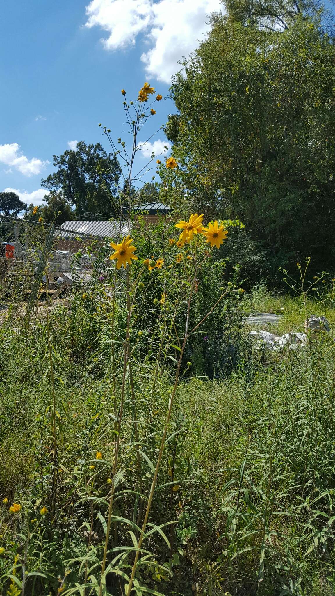
[[[299, 300], [253, 293], [243, 308], [248, 301], [262, 312], [277, 305], [284, 309], [281, 325], [292, 321], [301, 328]], [[315, 306], [312, 312], [321, 313]], [[2, 328], [0, 503], [8, 499], [0, 521], [3, 594], [15, 594], [14, 574], [21, 594], [25, 570], [26, 596], [57, 594], [63, 585], [62, 594], [83, 596], [78, 586], [85, 582], [85, 596], [97, 593], [120, 402], [119, 393], [110, 398], [110, 338], [103, 335], [98, 352], [89, 349], [95, 335], [89, 336], [91, 319], [80, 312], [80, 335], [65, 310], [50, 322], [56, 457], [45, 322], [21, 334], [13, 325]], [[324, 312], [333, 322], [333, 311]], [[134, 399], [127, 382], [121, 427], [114, 551], [108, 555], [106, 594], [115, 596], [124, 594], [117, 574], [133, 560], [122, 549], [138, 539], [173, 365], [166, 363], [154, 392], [150, 359], [134, 356], [133, 373]], [[334, 594], [334, 378], [333, 341], [327, 337], [322, 345], [282, 354], [244, 346], [226, 378], [179, 384], [149, 518], [160, 532], [150, 526], [144, 544], [150, 557], [144, 555], [137, 573], [145, 589], [166, 596]], [[13, 502], [22, 506], [19, 514], [10, 513]], [[123, 567], [114, 560], [120, 554]]]

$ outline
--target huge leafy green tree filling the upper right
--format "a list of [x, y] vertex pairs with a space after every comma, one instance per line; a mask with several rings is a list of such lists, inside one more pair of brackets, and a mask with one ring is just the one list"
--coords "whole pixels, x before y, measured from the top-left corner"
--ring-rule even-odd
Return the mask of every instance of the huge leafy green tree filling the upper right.
[[317, 17], [269, 30], [215, 15], [171, 89], [166, 134], [194, 209], [240, 218], [272, 274], [335, 259], [335, 47]]

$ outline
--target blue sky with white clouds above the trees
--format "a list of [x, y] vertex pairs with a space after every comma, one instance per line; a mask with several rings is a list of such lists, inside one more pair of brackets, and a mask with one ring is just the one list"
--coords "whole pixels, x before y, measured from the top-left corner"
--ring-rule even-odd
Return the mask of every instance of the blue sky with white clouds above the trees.
[[[198, 45], [207, 15], [219, 7], [219, 0], [2, 3], [0, 190], [41, 204], [41, 178], [52, 172], [52, 154], [79, 140], [108, 150], [99, 122], [114, 138], [124, 137], [120, 90], [135, 100], [147, 80], [167, 97], [178, 59]], [[147, 136], [175, 111], [169, 99], [156, 106]], [[152, 140], [159, 139], [166, 141], [162, 131]]]

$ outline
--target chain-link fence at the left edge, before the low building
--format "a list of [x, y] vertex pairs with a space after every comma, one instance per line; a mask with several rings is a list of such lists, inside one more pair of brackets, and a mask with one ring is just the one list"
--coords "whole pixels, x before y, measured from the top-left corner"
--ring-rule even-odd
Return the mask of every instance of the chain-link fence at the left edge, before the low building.
[[[110, 238], [0, 216], [0, 309], [29, 316], [110, 271]], [[0, 320], [1, 322], [1, 320]]]

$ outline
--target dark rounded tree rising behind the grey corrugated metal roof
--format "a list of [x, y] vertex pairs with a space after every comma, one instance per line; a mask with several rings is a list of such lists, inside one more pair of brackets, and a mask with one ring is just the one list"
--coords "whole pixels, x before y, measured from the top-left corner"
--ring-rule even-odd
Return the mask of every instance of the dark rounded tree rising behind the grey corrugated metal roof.
[[100, 143], [79, 141], [75, 151], [53, 159], [56, 171], [42, 179], [43, 188], [61, 191], [76, 215], [113, 213], [120, 178], [116, 156], [107, 154]]

